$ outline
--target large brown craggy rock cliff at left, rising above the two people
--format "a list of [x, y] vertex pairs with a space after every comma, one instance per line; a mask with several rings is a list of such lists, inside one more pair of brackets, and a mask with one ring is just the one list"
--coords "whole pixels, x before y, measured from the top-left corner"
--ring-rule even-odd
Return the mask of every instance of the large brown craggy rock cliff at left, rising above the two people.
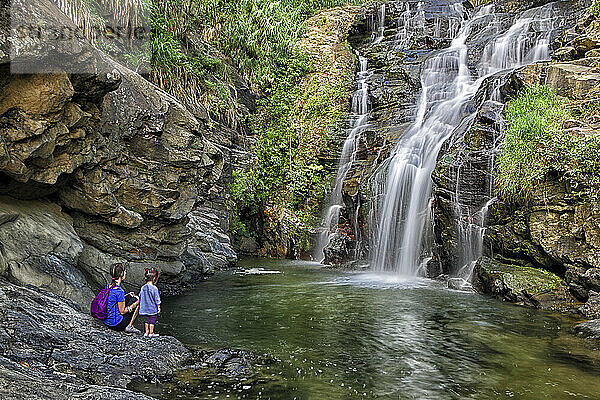
[[[15, 1], [23, 3], [23, 21], [43, 18], [75, 28], [49, 0], [36, 7]], [[8, 7], [0, 9], [7, 14]], [[0, 45], [7, 34], [0, 31]], [[36, 43], [15, 46], [26, 55], [59, 54], [86, 72], [11, 74], [8, 58], [2, 58], [0, 195], [13, 200], [0, 201], [0, 207], [16, 201], [15, 213], [26, 217], [15, 220], [7, 209], [2, 219], [0, 234], [21, 231], [8, 242], [12, 247], [1, 257], [0, 274], [88, 304], [91, 292], [80, 287], [85, 279], [76, 268], [101, 286], [113, 262], [126, 262], [129, 283], [140, 286], [144, 268], [158, 266], [162, 283], [177, 285], [188, 272], [206, 273], [235, 261], [225, 234], [226, 159], [207, 139], [215, 129], [207, 113], [194, 109], [196, 118], [83, 39], [70, 43], [74, 47]], [[48, 211], [50, 203], [58, 204], [56, 211]], [[57, 234], [41, 235], [44, 225], [58, 225]], [[17, 243], [21, 250], [14, 250]], [[61, 277], [66, 265], [68, 279]], [[35, 279], [42, 272], [46, 275]]]

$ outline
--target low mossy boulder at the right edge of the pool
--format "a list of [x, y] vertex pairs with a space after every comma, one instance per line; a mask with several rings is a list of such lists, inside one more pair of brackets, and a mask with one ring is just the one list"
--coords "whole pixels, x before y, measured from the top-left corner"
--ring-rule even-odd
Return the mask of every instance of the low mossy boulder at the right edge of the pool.
[[481, 294], [546, 310], [566, 311], [578, 305], [559, 276], [487, 257], [475, 265], [473, 287]]

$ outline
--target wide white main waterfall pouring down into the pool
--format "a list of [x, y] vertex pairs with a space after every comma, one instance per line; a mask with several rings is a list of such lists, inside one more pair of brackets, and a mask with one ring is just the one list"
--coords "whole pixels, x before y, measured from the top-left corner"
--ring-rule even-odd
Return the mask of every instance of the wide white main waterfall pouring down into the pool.
[[[460, 4], [453, 7], [462, 9]], [[385, 184], [379, 184], [384, 192], [371, 244], [371, 268], [375, 271], [416, 275], [430, 257], [431, 173], [444, 142], [456, 129], [467, 129], [475, 117], [471, 100], [484, 79], [498, 71], [548, 57], [551, 30], [544, 28], [553, 23], [552, 4], [523, 13], [506, 32], [487, 45], [475, 68], [469, 68], [467, 40], [474, 29], [480, 25], [485, 25], [484, 29], [502, 27], [493, 9], [493, 5], [483, 7], [472, 18], [463, 20], [449, 48], [440, 50], [424, 63], [415, 122], [380, 166], [382, 172], [377, 174]], [[471, 224], [479, 230], [464, 232], [462, 245], [470, 246], [468, 251], [472, 252], [463, 257], [465, 261], [481, 253], [479, 239], [471, 237], [483, 237], [484, 208], [485, 205], [481, 207], [481, 223]]]

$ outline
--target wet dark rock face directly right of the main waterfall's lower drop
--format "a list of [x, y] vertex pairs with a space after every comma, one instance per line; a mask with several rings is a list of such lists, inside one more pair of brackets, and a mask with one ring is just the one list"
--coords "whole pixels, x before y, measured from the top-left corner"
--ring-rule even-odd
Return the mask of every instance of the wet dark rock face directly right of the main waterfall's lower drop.
[[498, 151], [504, 118], [502, 104], [486, 101], [485, 93], [487, 88], [503, 87], [507, 80], [506, 76], [492, 77], [482, 85], [481, 94], [474, 99], [483, 101], [477, 105], [479, 111], [466, 129], [457, 129], [444, 143], [432, 173], [434, 254], [445, 273], [455, 273], [468, 262], [462, 249], [473, 244], [461, 242], [465, 236], [461, 230], [476, 230], [486, 223], [481, 210], [492, 197], [490, 167]]

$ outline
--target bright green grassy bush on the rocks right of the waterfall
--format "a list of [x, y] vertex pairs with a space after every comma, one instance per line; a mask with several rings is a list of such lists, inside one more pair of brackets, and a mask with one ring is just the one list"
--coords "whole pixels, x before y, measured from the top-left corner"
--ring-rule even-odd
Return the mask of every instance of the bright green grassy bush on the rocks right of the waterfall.
[[549, 172], [556, 171], [579, 193], [600, 192], [600, 137], [593, 131], [563, 129], [574, 114], [595, 112], [591, 103], [570, 111], [547, 86], [526, 89], [505, 109], [505, 144], [498, 159], [497, 185], [505, 198], [526, 198]]

